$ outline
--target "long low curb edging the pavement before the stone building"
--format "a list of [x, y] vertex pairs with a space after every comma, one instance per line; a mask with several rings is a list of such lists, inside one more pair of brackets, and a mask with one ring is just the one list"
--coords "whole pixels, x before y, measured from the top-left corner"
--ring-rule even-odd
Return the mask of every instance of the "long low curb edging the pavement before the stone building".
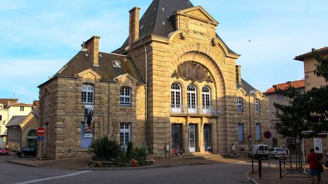
[[141, 166], [141, 167], [117, 167], [117, 168], [92, 168], [87, 167], [86, 169], [63, 169], [63, 168], [48, 168], [42, 167], [35, 164], [24, 164], [15, 162], [14, 160], [8, 160], [8, 163], [19, 164], [28, 167], [37, 167], [42, 169], [53, 169], [53, 170], [66, 170], [66, 171], [115, 171], [115, 170], [138, 170], [138, 169], [153, 169], [153, 168], [168, 168], [168, 167], [179, 167], [179, 166], [197, 166], [197, 165], [211, 165], [206, 163], [193, 163], [193, 164], [162, 164], [162, 165], [153, 165], [153, 166]]

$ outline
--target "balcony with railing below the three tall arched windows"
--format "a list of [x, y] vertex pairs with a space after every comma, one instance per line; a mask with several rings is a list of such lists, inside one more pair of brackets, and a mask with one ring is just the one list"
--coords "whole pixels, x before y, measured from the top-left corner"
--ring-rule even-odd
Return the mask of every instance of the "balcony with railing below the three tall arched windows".
[[219, 107], [202, 105], [171, 105], [171, 114], [218, 116]]

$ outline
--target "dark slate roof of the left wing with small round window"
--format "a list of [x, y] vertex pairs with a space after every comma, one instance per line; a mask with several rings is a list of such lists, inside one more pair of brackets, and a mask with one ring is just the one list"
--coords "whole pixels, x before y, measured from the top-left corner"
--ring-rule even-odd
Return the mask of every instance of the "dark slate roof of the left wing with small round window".
[[[115, 60], [120, 61], [121, 67], [113, 66], [113, 61]], [[99, 66], [94, 66], [89, 51], [79, 51], [64, 67], [62, 67], [54, 75], [53, 78], [55, 77], [75, 78], [76, 74], [79, 74], [88, 69], [91, 69], [94, 72], [96, 72], [98, 75], [100, 75], [101, 76], [100, 80], [102, 81], [114, 81], [114, 78], [116, 78], [117, 76], [129, 73], [132, 77], [137, 79], [139, 83], [143, 83], [142, 79], [136, 72], [133, 63], [127, 56], [99, 52]]]

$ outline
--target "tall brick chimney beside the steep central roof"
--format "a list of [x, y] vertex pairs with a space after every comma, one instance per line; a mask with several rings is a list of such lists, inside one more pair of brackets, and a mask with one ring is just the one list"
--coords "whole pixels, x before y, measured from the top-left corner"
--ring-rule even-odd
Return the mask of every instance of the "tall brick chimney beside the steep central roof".
[[139, 38], [139, 13], [140, 8], [134, 7], [130, 11], [130, 22], [129, 22], [129, 49], [131, 45]]

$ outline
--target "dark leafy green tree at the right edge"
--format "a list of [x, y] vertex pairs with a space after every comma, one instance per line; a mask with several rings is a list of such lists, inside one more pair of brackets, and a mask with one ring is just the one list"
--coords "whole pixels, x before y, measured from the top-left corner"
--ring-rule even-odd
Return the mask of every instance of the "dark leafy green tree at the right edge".
[[[321, 57], [315, 49], [312, 50], [318, 61], [314, 74], [328, 81], [328, 58]], [[275, 129], [283, 136], [302, 137], [302, 131], [312, 130], [312, 136], [328, 131], [328, 86], [312, 88], [309, 91], [296, 90], [291, 82], [285, 89], [274, 86], [277, 94], [288, 99], [288, 104], [277, 104], [275, 113], [277, 122]]]

